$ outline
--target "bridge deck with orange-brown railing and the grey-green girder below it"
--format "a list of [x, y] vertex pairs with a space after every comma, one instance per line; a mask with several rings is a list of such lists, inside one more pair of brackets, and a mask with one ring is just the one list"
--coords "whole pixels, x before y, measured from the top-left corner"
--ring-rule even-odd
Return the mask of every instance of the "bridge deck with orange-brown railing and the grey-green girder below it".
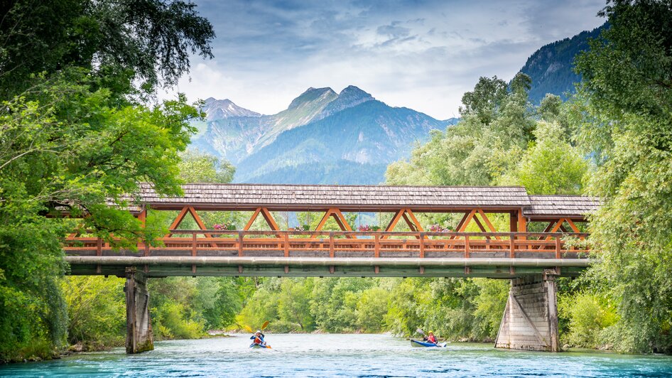
[[[308, 232], [173, 230], [161, 246], [116, 249], [94, 237], [70, 237], [71, 274], [148, 276], [488, 276], [510, 278], [590, 264], [568, 237], [535, 232]], [[580, 243], [579, 243], [580, 244]]]

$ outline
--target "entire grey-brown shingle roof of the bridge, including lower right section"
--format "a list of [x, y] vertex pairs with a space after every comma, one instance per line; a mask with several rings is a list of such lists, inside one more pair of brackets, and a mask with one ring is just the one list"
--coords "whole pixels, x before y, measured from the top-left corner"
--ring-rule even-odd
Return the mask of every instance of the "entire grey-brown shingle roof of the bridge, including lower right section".
[[[459, 212], [477, 207], [506, 212], [522, 208], [532, 220], [578, 219], [600, 205], [596, 198], [580, 195], [528, 195], [521, 186], [186, 184], [182, 188], [183, 197], [164, 197], [143, 183], [136, 198], [139, 204], [163, 210], [194, 206], [201, 210], [396, 211], [411, 207], [416, 212]], [[140, 207], [129, 210], [137, 212]]]

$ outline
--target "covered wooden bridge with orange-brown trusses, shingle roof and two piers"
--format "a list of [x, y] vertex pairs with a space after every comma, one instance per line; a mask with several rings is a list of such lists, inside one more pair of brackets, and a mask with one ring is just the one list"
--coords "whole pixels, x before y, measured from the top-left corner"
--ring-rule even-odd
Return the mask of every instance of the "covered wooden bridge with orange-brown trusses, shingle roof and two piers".
[[[142, 185], [140, 193], [129, 198], [135, 204], [129, 210], [143, 222], [148, 210], [178, 213], [168, 234], [161, 238], [161, 246], [140, 244], [136, 250], [119, 250], [78, 233], [67, 238], [65, 251], [71, 274], [128, 279], [126, 295], [129, 308], [133, 308], [129, 311], [135, 314], [129, 313], [129, 352], [143, 350], [141, 345], [147, 340], [147, 335], [130, 329], [142, 328], [141, 323], [146, 328], [148, 324], [144, 280], [163, 276], [512, 279], [512, 293], [516, 285], [529, 286], [534, 287], [538, 298], [526, 305], [524, 302], [531, 298], [527, 289], [521, 291], [526, 299], [509, 298], [507, 313], [522, 311], [524, 315], [511, 316], [529, 323], [531, 336], [527, 341], [509, 338], [506, 345], [558, 350], [557, 319], [553, 336], [553, 321], [548, 318], [556, 313], [548, 308], [555, 306], [553, 279], [576, 275], [590, 264], [583, 243], [588, 234], [581, 228], [586, 216], [599, 205], [595, 198], [582, 196], [528, 195], [522, 187], [188, 184], [183, 190], [183, 197], [166, 198], [157, 195], [150, 185]], [[241, 229], [213, 229], [200, 216], [205, 211], [251, 215]], [[317, 212], [320, 222], [315, 229], [283, 230], [274, 212]], [[353, 229], [344, 215], [348, 212], [384, 213], [389, 222], [379, 231]], [[452, 230], [428, 230], [418, 221], [421, 213], [452, 213], [460, 220]], [[185, 217], [193, 217], [198, 229], [178, 229]], [[251, 230], [259, 217], [267, 229]], [[324, 229], [330, 218], [340, 231]], [[406, 229], [399, 231], [402, 224]], [[552, 294], [553, 303], [549, 302], [550, 296], [543, 299], [547, 294]], [[536, 306], [539, 301], [546, 305]], [[536, 315], [526, 313], [526, 306], [531, 306], [529, 311], [545, 308], [537, 314], [542, 320], [534, 320]], [[506, 317], [499, 346], [504, 346], [501, 340], [506, 335], [518, 332], [509, 332], [509, 325], [516, 323], [507, 322]], [[543, 336], [539, 328], [548, 330], [547, 335]], [[149, 331], [151, 335], [151, 327]]]

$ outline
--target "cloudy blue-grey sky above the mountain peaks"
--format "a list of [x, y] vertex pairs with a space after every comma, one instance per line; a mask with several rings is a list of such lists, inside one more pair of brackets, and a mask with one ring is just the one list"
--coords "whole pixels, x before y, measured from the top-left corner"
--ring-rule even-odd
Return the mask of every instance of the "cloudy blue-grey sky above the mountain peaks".
[[308, 87], [356, 85], [394, 107], [459, 117], [481, 76], [510, 80], [542, 45], [604, 23], [604, 0], [193, 0], [217, 37], [171, 91], [276, 114]]

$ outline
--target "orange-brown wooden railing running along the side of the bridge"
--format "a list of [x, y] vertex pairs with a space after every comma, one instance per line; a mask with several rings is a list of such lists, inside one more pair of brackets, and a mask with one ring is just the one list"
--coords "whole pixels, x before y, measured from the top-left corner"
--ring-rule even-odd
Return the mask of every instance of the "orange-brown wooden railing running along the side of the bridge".
[[[586, 233], [548, 232], [342, 232], [181, 230], [139, 244], [144, 256], [259, 257], [583, 257]], [[68, 254], [119, 253], [96, 237], [68, 237]]]

